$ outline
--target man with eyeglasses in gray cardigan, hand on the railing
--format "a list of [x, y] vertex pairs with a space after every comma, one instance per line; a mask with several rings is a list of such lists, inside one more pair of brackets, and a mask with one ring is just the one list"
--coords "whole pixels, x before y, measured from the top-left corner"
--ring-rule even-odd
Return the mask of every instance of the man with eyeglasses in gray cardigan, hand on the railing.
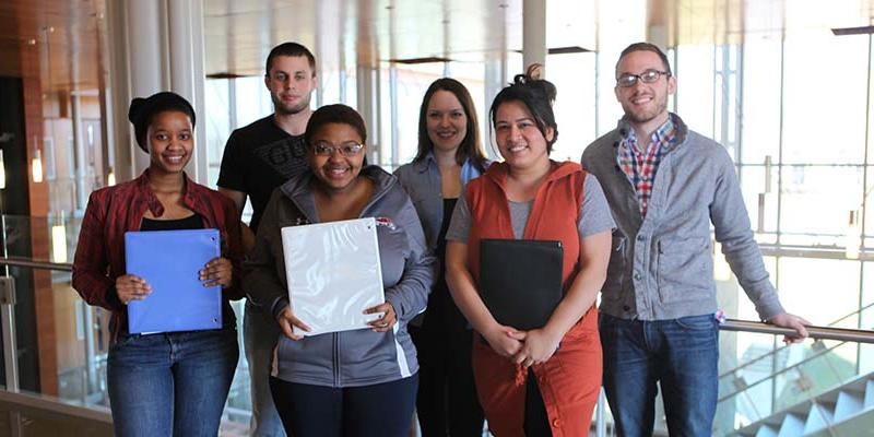
[[676, 78], [664, 52], [628, 46], [614, 91], [625, 116], [582, 154], [617, 226], [601, 290], [604, 390], [621, 436], [652, 435], [659, 388], [671, 435], [710, 436], [719, 354], [710, 225], [763, 320], [794, 329], [788, 342], [810, 323], [780, 305], [725, 149], [668, 111]]

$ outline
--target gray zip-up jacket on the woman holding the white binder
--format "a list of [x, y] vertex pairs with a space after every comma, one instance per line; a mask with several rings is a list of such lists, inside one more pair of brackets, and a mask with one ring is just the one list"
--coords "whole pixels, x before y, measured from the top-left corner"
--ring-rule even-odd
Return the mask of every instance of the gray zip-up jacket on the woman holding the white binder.
[[[280, 229], [319, 222], [312, 177], [307, 172], [273, 191], [258, 226], [255, 250], [245, 264], [249, 298], [274, 317], [288, 306]], [[370, 178], [376, 186], [361, 217], [378, 218], [382, 283], [398, 323], [389, 332], [361, 329], [300, 341], [280, 334], [272, 374], [282, 380], [358, 387], [398, 380], [418, 370], [406, 323], [425, 310], [436, 260], [426, 249], [418, 216], [398, 179], [373, 165], [363, 168], [359, 177]]]

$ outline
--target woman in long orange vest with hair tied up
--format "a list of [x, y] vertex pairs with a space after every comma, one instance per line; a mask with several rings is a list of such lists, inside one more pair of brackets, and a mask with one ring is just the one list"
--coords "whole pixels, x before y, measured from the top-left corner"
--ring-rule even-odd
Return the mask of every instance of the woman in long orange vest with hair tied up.
[[[473, 371], [488, 427], [504, 436], [588, 435], [601, 387], [595, 296], [614, 227], [598, 180], [550, 160], [555, 86], [519, 74], [489, 111], [505, 162], [472, 180], [447, 232], [447, 282], [473, 326]], [[479, 294], [480, 240], [558, 240], [564, 297], [540, 329], [498, 323]], [[559, 347], [560, 346], [560, 347]]]

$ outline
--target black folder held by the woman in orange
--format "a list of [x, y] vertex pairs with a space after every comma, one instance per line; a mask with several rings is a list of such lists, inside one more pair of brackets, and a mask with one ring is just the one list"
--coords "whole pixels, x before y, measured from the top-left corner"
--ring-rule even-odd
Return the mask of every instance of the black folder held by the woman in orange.
[[480, 295], [500, 324], [543, 328], [562, 300], [562, 241], [483, 239]]

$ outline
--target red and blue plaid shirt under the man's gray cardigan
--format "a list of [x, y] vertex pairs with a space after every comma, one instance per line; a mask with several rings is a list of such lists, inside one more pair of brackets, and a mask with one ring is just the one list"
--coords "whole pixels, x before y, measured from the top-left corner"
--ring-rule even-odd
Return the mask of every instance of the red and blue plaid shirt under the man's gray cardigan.
[[656, 181], [656, 172], [659, 170], [659, 163], [661, 163], [662, 155], [673, 146], [676, 133], [674, 122], [669, 117], [664, 125], [652, 132], [649, 143], [642, 151], [638, 149], [637, 134], [634, 129], [623, 127], [622, 131], [625, 134], [616, 150], [616, 163], [635, 187], [637, 201], [640, 205], [640, 215], [646, 217], [649, 198], [652, 196], [652, 184]]

